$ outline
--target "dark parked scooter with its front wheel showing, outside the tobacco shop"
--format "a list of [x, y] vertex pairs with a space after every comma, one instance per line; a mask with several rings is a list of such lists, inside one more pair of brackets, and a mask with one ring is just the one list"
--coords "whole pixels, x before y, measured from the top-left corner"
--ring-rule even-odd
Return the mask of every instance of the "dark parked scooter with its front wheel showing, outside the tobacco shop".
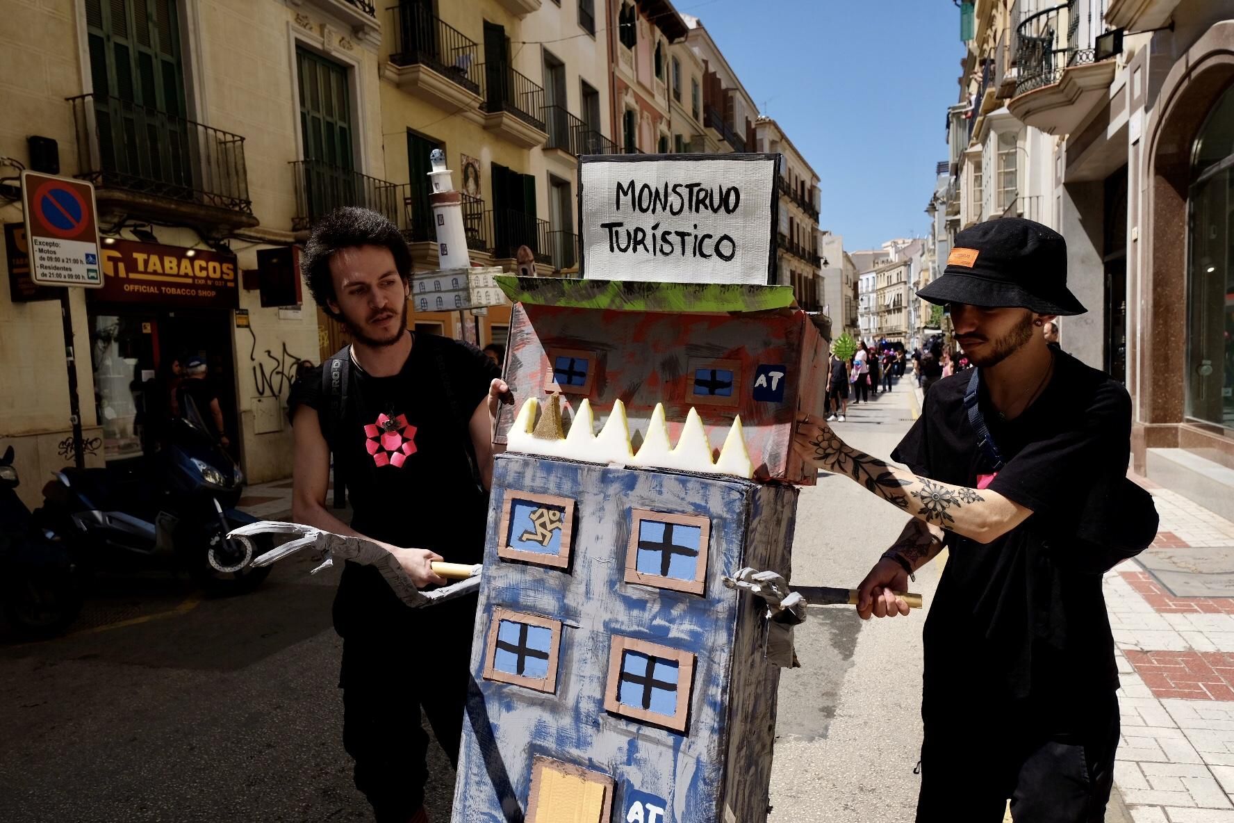
[[160, 449], [137, 469], [63, 469], [43, 489], [42, 516], [72, 534], [90, 571], [186, 571], [215, 593], [257, 589], [269, 574], [227, 533], [257, 518], [237, 510], [244, 475], [206, 428], [193, 399]]

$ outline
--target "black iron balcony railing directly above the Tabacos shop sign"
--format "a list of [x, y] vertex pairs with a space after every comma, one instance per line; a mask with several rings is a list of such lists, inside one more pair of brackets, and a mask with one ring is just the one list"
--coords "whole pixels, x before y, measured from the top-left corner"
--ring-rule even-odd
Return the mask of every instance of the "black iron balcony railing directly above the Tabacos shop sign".
[[253, 213], [244, 138], [99, 94], [68, 97], [78, 143], [78, 176], [188, 204]]

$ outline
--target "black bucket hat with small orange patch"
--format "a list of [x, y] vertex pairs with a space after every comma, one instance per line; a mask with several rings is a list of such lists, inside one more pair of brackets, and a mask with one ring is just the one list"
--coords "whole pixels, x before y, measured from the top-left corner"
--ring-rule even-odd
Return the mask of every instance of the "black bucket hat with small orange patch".
[[955, 236], [943, 276], [917, 292], [932, 304], [1028, 308], [1039, 315], [1082, 315], [1067, 290], [1067, 242], [1021, 217], [988, 220]]

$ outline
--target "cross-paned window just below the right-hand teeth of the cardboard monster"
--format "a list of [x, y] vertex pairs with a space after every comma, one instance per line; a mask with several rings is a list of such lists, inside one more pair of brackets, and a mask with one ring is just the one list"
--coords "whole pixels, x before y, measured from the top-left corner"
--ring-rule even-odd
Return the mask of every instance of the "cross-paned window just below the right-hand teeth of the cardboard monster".
[[703, 593], [710, 538], [703, 516], [632, 510], [626, 582]]

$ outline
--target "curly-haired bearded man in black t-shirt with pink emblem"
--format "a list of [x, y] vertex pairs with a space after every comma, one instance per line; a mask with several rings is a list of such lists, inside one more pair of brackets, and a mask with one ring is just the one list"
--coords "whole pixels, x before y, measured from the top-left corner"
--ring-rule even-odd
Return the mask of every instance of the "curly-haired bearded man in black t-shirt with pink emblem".
[[[331, 212], [313, 228], [302, 267], [317, 304], [354, 343], [339, 420], [322, 381], [326, 364], [307, 369], [289, 397], [292, 519], [378, 540], [417, 586], [442, 585], [434, 560], [482, 558], [492, 415], [508, 389], [475, 347], [407, 331], [411, 253], [381, 215]], [[326, 508], [332, 450], [350, 527]], [[427, 821], [421, 708], [458, 758], [475, 608], [475, 596], [408, 608], [373, 566], [343, 570], [333, 610], [343, 638], [343, 745], [381, 823]]]

